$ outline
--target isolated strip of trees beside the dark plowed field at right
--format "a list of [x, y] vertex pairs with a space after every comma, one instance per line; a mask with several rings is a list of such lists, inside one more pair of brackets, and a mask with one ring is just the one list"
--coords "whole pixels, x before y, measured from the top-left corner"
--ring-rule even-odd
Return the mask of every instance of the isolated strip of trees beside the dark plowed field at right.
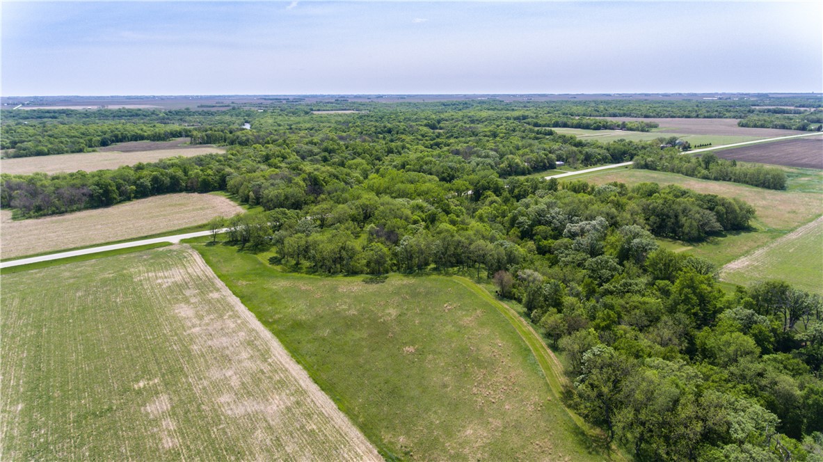
[[635, 157], [636, 169], [660, 170], [704, 180], [732, 181], [767, 189], [786, 189], [786, 174], [776, 167], [740, 165], [707, 152], [703, 156], [681, 156], [673, 150], [644, 152]]

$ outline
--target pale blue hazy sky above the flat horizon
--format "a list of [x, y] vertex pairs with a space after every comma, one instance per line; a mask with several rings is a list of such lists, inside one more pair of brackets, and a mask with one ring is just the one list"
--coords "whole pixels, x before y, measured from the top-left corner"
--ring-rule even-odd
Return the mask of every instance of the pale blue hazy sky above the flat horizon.
[[2, 96], [823, 91], [823, 2], [0, 8]]

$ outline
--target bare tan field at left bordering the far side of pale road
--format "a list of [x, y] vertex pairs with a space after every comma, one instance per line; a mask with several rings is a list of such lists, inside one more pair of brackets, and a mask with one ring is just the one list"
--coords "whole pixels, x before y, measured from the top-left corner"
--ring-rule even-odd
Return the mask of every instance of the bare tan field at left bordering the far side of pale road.
[[3, 210], [0, 219], [0, 257], [72, 249], [113, 240], [132, 239], [230, 217], [243, 209], [214, 194], [165, 194], [53, 217], [12, 220]]

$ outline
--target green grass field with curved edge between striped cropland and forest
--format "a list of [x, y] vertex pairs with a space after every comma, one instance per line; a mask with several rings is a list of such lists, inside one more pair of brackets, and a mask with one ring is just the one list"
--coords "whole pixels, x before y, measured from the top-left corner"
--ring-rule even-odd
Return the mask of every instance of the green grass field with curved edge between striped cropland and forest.
[[604, 458], [509, 320], [453, 278], [320, 278], [194, 247], [388, 459]]

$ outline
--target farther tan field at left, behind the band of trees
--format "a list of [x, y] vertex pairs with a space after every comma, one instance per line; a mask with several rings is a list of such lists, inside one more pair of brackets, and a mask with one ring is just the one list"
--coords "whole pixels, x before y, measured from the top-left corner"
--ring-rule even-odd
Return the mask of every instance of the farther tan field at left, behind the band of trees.
[[12, 175], [27, 175], [37, 171], [48, 174], [77, 170], [116, 169], [119, 166], [133, 166], [138, 162], [154, 162], [174, 156], [202, 156], [214, 152], [226, 152], [222, 147], [177, 147], [131, 152], [83, 152], [80, 154], [58, 154], [54, 156], [16, 157], [2, 159], [0, 170]]

